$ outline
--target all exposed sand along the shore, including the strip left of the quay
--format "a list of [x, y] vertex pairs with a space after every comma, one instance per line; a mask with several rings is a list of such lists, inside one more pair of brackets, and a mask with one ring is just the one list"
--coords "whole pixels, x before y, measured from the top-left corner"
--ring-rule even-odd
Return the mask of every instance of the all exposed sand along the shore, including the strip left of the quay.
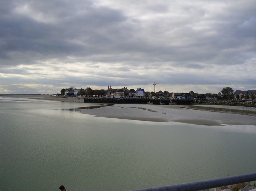
[[[42, 100], [80, 102], [83, 99], [52, 96]], [[103, 106], [106, 104], [99, 104]], [[190, 108], [190, 109], [189, 109]], [[95, 117], [131, 119], [152, 122], [180, 122], [196, 125], [256, 125], [256, 109], [227, 105], [147, 105], [114, 104], [83, 109], [81, 113]], [[241, 115], [242, 114], [242, 115]]]

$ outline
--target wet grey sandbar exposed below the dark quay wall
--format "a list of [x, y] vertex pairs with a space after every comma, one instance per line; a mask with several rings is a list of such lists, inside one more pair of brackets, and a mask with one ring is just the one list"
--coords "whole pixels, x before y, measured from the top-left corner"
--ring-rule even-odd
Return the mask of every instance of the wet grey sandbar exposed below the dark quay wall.
[[84, 109], [81, 113], [96, 117], [132, 119], [153, 122], [180, 122], [195, 125], [256, 125], [256, 117], [230, 112], [188, 109], [182, 105], [114, 104]]

